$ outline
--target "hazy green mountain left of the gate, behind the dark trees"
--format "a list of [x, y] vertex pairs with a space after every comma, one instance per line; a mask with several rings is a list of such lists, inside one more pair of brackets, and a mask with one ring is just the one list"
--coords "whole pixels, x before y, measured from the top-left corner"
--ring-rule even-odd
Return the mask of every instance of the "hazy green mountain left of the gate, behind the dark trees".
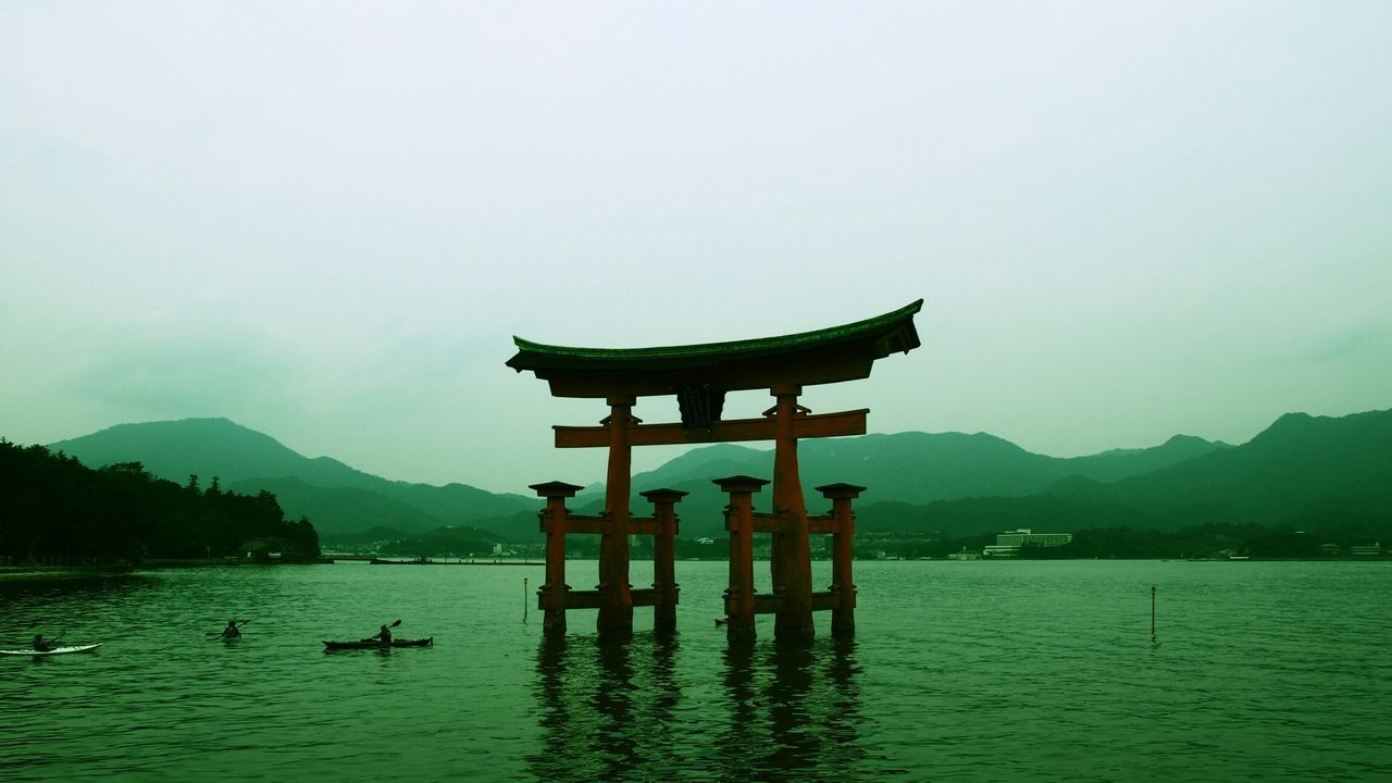
[[226, 418], [122, 424], [82, 437], [50, 443], [90, 467], [142, 463], [152, 474], [184, 483], [196, 474], [226, 489], [273, 492], [291, 518], [309, 517], [320, 536], [381, 525], [418, 532], [443, 525], [536, 513], [536, 499], [497, 495], [462, 483], [432, 486], [388, 481], [329, 457], [309, 458], [269, 435]]

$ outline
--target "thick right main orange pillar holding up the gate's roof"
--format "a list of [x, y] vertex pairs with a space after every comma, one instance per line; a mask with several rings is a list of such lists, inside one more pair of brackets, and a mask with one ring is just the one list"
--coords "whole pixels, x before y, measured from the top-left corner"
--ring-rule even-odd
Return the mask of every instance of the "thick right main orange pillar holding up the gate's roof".
[[774, 621], [774, 637], [809, 637], [812, 624], [812, 550], [807, 548], [807, 506], [798, 475], [796, 385], [777, 385], [774, 414], [774, 513], [785, 514], [784, 532], [774, 534], [774, 592], [782, 603]]

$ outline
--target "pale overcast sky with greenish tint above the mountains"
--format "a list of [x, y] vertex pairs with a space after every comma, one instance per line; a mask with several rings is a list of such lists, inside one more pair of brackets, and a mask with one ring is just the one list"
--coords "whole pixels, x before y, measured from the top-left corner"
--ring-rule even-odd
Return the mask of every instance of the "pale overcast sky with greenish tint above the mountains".
[[1058, 457], [1385, 410], [1388, 29], [1381, 0], [0, 3], [0, 436], [227, 417], [528, 493], [603, 479], [550, 428], [608, 410], [504, 366], [514, 336], [919, 298], [920, 348], [800, 401]]

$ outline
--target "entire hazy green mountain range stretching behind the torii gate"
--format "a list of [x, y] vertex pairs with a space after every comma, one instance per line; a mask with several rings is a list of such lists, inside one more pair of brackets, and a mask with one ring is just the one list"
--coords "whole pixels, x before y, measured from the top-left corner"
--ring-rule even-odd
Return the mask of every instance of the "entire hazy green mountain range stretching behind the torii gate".
[[[152, 474], [224, 489], [267, 489], [285, 513], [301, 514], [324, 541], [370, 528], [401, 534], [455, 525], [503, 539], [536, 536], [540, 502], [464, 483], [388, 481], [329, 457], [308, 458], [228, 419], [182, 419], [113, 426], [49, 444], [89, 467], [139, 461]], [[870, 488], [856, 506], [862, 529], [938, 531], [963, 536], [1013, 527], [1076, 531], [1098, 527], [1175, 529], [1203, 522], [1295, 525], [1302, 520], [1392, 513], [1392, 411], [1340, 418], [1288, 414], [1240, 446], [1175, 436], [1150, 449], [1058, 458], [976, 433], [866, 435], [799, 443], [809, 510], [827, 502], [814, 488], [848, 482]], [[672, 488], [681, 535], [720, 535], [725, 497], [710, 479], [773, 475], [773, 451], [734, 444], [693, 449], [633, 489]], [[760, 502], [761, 500], [761, 502]], [[756, 496], [756, 506], [767, 496]], [[572, 509], [596, 513], [597, 488]], [[647, 504], [635, 496], [633, 513]], [[383, 531], [386, 532], [386, 531]]]

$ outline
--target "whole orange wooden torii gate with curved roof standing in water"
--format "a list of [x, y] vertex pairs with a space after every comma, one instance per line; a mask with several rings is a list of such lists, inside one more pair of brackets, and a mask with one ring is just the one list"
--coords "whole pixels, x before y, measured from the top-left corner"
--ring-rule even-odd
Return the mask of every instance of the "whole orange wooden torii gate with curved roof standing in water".
[[[898, 311], [817, 332], [654, 348], [575, 348], [544, 346], [514, 337], [518, 352], [507, 365], [532, 371], [551, 386], [555, 397], [603, 398], [610, 415], [600, 426], [554, 426], [557, 449], [608, 447], [606, 506], [599, 517], [580, 517], [565, 509], [565, 499], [580, 488], [562, 482], [532, 485], [547, 499], [541, 531], [547, 535], [546, 584], [537, 591], [544, 610], [543, 631], [565, 633], [567, 609], [599, 609], [596, 627], [603, 631], [631, 631], [633, 606], [654, 606], [654, 626], [677, 623], [677, 584], [672, 536], [677, 534], [674, 504], [685, 492], [644, 492], [654, 504], [650, 518], [633, 518], [632, 447], [656, 444], [722, 443], [773, 440], [774, 478], [771, 514], [756, 514], [752, 495], [768, 483], [750, 476], [714, 479], [729, 493], [725, 528], [729, 531], [731, 584], [725, 591], [725, 614], [731, 638], [754, 635], [754, 614], [777, 614], [774, 635], [799, 637], [813, 633], [812, 613], [832, 610], [832, 634], [855, 631], [855, 585], [851, 582], [851, 500], [864, 488], [845, 483], [817, 488], [834, 502], [830, 515], [809, 517], [798, 474], [798, 439], [864, 435], [869, 410], [812, 415], [798, 404], [803, 386], [841, 383], [869, 378], [876, 359], [919, 347], [913, 316], [919, 300]], [[764, 418], [722, 421], [728, 392], [768, 389], [777, 400]], [[638, 397], [675, 396], [679, 424], [642, 424], [631, 414]], [[574, 591], [565, 584], [565, 534], [597, 534], [600, 542], [600, 584], [594, 591]], [[773, 536], [773, 587], [768, 596], [753, 589], [754, 532]], [[830, 532], [832, 543], [832, 587], [812, 589], [809, 532]], [[654, 535], [654, 585], [632, 589], [628, 536]]]

